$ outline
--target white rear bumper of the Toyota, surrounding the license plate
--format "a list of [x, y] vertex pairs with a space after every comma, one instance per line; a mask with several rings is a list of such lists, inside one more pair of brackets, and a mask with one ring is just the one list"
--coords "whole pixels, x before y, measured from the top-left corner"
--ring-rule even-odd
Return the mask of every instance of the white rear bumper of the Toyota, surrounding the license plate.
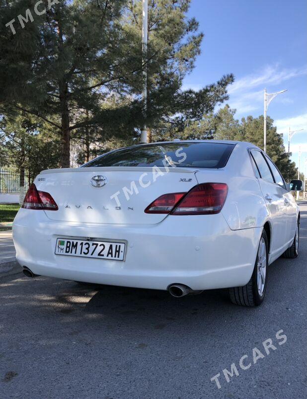
[[[244, 285], [255, 263], [261, 228], [230, 230], [222, 214], [168, 216], [153, 225], [51, 221], [20, 209], [13, 223], [16, 259], [33, 273], [69, 280], [165, 290]], [[126, 240], [125, 262], [55, 255], [57, 237]]]

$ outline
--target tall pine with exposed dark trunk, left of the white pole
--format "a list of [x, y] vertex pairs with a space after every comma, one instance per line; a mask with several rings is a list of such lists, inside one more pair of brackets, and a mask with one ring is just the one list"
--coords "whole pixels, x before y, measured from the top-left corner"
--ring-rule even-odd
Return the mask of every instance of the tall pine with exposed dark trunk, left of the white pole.
[[[38, 51], [31, 60], [26, 90], [13, 105], [57, 129], [61, 166], [69, 167], [71, 136], [79, 128], [114, 120], [118, 110], [104, 110], [103, 100], [112, 91], [126, 92], [135, 69], [142, 66], [120, 23], [126, 1], [54, 2], [35, 17], [39, 34], [30, 39]], [[86, 110], [91, 118], [80, 121]]]

